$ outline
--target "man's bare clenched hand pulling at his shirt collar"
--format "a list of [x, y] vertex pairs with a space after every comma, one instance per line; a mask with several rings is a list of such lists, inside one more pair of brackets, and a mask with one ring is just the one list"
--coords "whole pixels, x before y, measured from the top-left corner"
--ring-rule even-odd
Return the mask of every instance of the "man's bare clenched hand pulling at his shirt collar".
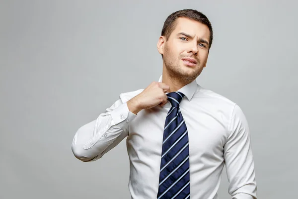
[[163, 106], [167, 103], [166, 92], [170, 87], [162, 82], [152, 82], [142, 93], [127, 101], [128, 109], [138, 114], [142, 109]]

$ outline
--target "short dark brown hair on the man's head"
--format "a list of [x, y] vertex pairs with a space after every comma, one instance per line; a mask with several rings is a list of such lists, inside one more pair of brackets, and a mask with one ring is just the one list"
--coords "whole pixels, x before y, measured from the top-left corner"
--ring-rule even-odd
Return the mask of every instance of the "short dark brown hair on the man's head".
[[164, 24], [161, 30], [161, 36], [165, 36], [166, 39], [169, 38], [170, 34], [173, 32], [173, 30], [176, 27], [176, 19], [179, 17], [189, 18], [208, 26], [210, 31], [210, 38], [209, 38], [209, 49], [210, 49], [212, 40], [213, 40], [213, 30], [212, 30], [211, 22], [209, 21], [209, 19], [205, 14], [194, 9], [183, 9], [183, 10], [178, 10], [176, 12], [171, 13], [164, 21]]

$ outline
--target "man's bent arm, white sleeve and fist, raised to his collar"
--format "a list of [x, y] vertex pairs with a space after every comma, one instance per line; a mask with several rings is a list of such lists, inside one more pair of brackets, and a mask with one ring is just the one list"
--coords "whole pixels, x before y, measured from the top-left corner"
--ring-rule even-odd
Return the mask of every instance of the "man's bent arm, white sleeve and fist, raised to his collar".
[[72, 144], [74, 156], [83, 162], [101, 158], [128, 135], [128, 124], [139, 111], [166, 104], [165, 92], [169, 89], [164, 83], [152, 82], [127, 102], [122, 101], [120, 95], [120, 99], [107, 108], [105, 113], [77, 130]]

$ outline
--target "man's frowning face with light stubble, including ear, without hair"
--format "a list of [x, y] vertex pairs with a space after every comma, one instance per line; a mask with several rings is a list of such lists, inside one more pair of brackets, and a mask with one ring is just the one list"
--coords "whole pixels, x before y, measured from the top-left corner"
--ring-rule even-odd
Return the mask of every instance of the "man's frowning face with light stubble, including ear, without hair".
[[157, 45], [167, 74], [185, 83], [195, 80], [206, 67], [209, 37], [207, 25], [184, 17], [176, 19], [169, 38], [165, 41], [160, 37]]

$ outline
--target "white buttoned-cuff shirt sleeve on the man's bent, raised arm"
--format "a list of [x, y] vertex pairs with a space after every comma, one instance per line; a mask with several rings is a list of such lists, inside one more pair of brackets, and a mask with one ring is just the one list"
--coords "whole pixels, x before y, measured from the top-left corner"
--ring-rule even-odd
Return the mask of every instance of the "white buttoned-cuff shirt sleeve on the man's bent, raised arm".
[[81, 126], [75, 133], [72, 151], [83, 161], [95, 161], [128, 135], [128, 125], [137, 115], [121, 99], [101, 113], [96, 120]]

